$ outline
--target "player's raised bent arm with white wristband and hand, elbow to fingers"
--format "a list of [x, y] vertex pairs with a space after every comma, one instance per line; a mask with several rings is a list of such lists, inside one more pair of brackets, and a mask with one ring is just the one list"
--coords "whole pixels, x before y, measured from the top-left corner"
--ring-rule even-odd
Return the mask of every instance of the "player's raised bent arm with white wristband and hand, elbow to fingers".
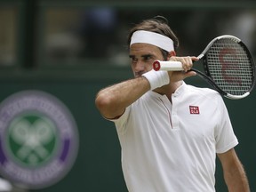
[[[192, 66], [192, 60], [197, 59], [196, 57], [172, 57], [172, 60], [181, 61], [184, 71], [187, 71]], [[150, 68], [152, 68], [152, 63]], [[114, 119], [121, 116], [125, 108], [149, 90], [155, 90], [170, 82], [175, 84], [188, 76], [195, 75], [193, 71], [184, 73], [151, 69], [142, 76], [102, 89], [96, 96], [95, 104], [102, 116]]]

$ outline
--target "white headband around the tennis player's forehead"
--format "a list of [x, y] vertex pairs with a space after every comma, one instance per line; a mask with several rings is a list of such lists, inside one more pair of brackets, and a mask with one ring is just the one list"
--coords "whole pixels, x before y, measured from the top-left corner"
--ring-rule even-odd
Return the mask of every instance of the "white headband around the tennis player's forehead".
[[150, 31], [135, 31], [132, 34], [130, 46], [136, 43], [153, 44], [167, 52], [174, 51], [173, 41], [171, 38]]

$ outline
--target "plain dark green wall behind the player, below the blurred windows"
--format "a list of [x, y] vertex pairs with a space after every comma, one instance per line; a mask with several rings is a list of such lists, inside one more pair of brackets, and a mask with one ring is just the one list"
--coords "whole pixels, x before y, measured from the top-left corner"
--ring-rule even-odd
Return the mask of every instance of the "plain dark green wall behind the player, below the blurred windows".
[[[0, 100], [10, 94], [23, 90], [41, 90], [49, 92], [64, 102], [76, 119], [80, 135], [80, 148], [76, 163], [68, 175], [59, 183], [49, 188], [35, 191], [41, 192], [125, 192], [124, 177], [120, 164], [120, 145], [115, 126], [102, 118], [94, 106], [94, 98], [101, 88], [122, 81], [130, 72], [113, 76], [105, 73], [101, 79], [88, 77], [91, 72], [84, 73], [84, 77], [67, 77], [58, 74], [58, 78], [49, 76], [24, 75], [20, 77], [6, 76], [0, 79]], [[96, 72], [94, 72], [96, 74]], [[122, 77], [121, 77], [122, 76]], [[203, 80], [193, 77], [188, 83], [208, 86]], [[240, 144], [236, 152], [244, 164], [244, 168], [251, 182], [252, 191], [255, 187], [256, 146], [254, 135], [256, 127], [255, 91], [244, 100], [227, 100], [229, 115]], [[79, 190], [77, 189], [79, 188]], [[216, 172], [217, 191], [228, 191], [225, 187], [219, 161]]]

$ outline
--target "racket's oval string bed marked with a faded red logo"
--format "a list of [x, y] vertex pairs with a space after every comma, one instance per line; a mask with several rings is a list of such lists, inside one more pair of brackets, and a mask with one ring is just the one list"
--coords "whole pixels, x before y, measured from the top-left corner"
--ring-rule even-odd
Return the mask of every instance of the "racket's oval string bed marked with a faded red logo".
[[208, 70], [221, 90], [232, 95], [243, 95], [252, 87], [252, 60], [241, 44], [231, 39], [220, 39], [207, 52]]

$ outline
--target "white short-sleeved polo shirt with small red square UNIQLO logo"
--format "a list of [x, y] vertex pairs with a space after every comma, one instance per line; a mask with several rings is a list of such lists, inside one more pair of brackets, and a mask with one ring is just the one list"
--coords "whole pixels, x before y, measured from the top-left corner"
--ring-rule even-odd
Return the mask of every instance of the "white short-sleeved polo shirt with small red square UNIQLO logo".
[[220, 94], [185, 83], [172, 103], [150, 91], [113, 121], [130, 192], [215, 191], [216, 153], [238, 144]]

